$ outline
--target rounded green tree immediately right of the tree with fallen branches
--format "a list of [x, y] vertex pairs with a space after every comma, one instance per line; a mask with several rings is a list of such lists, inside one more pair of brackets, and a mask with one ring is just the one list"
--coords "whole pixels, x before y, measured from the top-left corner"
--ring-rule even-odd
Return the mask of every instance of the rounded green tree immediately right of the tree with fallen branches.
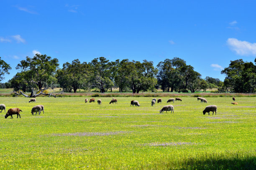
[[90, 65], [87, 62], [81, 63], [78, 59], [73, 60], [70, 64], [66, 62], [63, 68], [57, 70], [56, 77], [59, 85], [69, 92], [74, 90], [77, 92], [78, 88], [85, 88], [91, 74]]

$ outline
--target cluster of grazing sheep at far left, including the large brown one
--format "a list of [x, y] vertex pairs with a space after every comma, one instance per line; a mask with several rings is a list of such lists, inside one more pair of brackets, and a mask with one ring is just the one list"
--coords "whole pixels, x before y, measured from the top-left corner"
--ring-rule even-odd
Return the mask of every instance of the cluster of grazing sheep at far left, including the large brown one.
[[[30, 99], [28, 102], [36, 102], [36, 99]], [[5, 105], [4, 104], [1, 104], [0, 105], [0, 112], [2, 112], [3, 110], [5, 110]], [[34, 113], [38, 112], [38, 114], [40, 115], [41, 111], [43, 111], [44, 113], [44, 105], [36, 105], [34, 107], [32, 107], [31, 109], [31, 113], [32, 115], [34, 115]], [[5, 119], [10, 116], [11, 118], [13, 118], [13, 115], [17, 115], [17, 118], [20, 116], [20, 112], [22, 112], [22, 110], [20, 110], [18, 107], [15, 107], [15, 108], [11, 108], [7, 111], [6, 115], [5, 115]]]

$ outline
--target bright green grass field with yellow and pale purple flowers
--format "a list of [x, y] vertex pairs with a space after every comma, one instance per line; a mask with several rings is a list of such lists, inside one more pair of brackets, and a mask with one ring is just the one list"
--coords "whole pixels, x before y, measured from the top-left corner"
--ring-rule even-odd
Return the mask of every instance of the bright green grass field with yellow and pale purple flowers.
[[[210, 97], [208, 103], [184, 97], [174, 113], [152, 97], [0, 97], [0, 169], [253, 169], [256, 167], [256, 97]], [[90, 99], [90, 98], [88, 98]], [[138, 100], [141, 107], [130, 106]], [[34, 105], [45, 113], [31, 115]], [[218, 106], [217, 115], [202, 114]], [[6, 110], [6, 111], [7, 111]]]

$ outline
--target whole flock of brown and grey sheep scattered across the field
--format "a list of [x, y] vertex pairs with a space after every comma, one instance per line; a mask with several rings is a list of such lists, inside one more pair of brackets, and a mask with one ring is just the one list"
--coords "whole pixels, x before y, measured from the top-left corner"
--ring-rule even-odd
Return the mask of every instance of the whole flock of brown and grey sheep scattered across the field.
[[[233, 99], [233, 101], [236, 101], [236, 98], [235, 97], [233, 97], [232, 98]], [[203, 97], [197, 97], [197, 101], [198, 100], [200, 100], [201, 101], [201, 103], [202, 102], [204, 102], [204, 103], [207, 103], [207, 100], [205, 99], [205, 98], [203, 98]], [[169, 103], [169, 102], [173, 102], [174, 103], [174, 101], [182, 101], [182, 99], [181, 98], [179, 98], [179, 97], [176, 97], [175, 99], [174, 98], [171, 98], [171, 99], [169, 99], [169, 100], [167, 100], [167, 103]], [[28, 102], [36, 102], [36, 99], [35, 98], [32, 98], [32, 99], [30, 99]], [[85, 102], [87, 103], [88, 102], [88, 99], [85, 99]], [[90, 101], [89, 101], [90, 103], [91, 102], [95, 102], [95, 99], [94, 98], [92, 98], [92, 99], [90, 99]], [[157, 103], [161, 103], [162, 102], [162, 99], [158, 99], [157, 100]], [[97, 103], [98, 103], [98, 105], [101, 105], [102, 104], [102, 101], [99, 99], [99, 100], [97, 100]], [[115, 98], [112, 98], [112, 100], [110, 101], [110, 103], [109, 104], [111, 104], [111, 103], [115, 103], [115, 104], [117, 104], [117, 99], [115, 99]], [[156, 98], [154, 98], [154, 99], [152, 99], [152, 101], [151, 101], [151, 106], [155, 106], [155, 103], [156, 103]], [[231, 102], [231, 104], [233, 104], [233, 105], [238, 105], [238, 103], [237, 102]], [[140, 104], [139, 104], [139, 102], [137, 101], [137, 100], [131, 100], [131, 105], [135, 105], [135, 106], [140, 106]], [[131, 106], [130, 105], [130, 106]], [[3, 110], [5, 110], [5, 105], [4, 104], [0, 104], [0, 112], [2, 112]], [[34, 106], [34, 107], [32, 107], [32, 109], [31, 109], [31, 113], [32, 113], [32, 115], [34, 115], [34, 113], [36, 112], [36, 114], [37, 114], [37, 112], [38, 112], [38, 114], [40, 115], [41, 114], [41, 111], [43, 111], [43, 113], [44, 113], [44, 105], [36, 105], [36, 106]], [[166, 113], [167, 113], [167, 111], [171, 111], [171, 113], [172, 112], [174, 112], [174, 107], [173, 107], [173, 105], [166, 105], [166, 106], [164, 106], [161, 110], [160, 110], [160, 113], [162, 113], [162, 112], [164, 112], [164, 111], [166, 111]], [[20, 112], [22, 112], [22, 110], [20, 110], [18, 107], [15, 107], [15, 108], [11, 108], [11, 109], [9, 109], [8, 111], [7, 111], [7, 113], [6, 113], [6, 115], [5, 115], [5, 118], [7, 118], [8, 116], [11, 116], [11, 118], [13, 118], [13, 115], [17, 115], [17, 118], [20, 116]], [[203, 114], [205, 115], [205, 113], [208, 113], [208, 115], [210, 115], [210, 112], [212, 112], [212, 115], [214, 114], [214, 112], [215, 112], [215, 115], [216, 115], [216, 112], [217, 112], [217, 106], [216, 105], [208, 105], [208, 106], [206, 106], [205, 107], [205, 110], [203, 110]]]

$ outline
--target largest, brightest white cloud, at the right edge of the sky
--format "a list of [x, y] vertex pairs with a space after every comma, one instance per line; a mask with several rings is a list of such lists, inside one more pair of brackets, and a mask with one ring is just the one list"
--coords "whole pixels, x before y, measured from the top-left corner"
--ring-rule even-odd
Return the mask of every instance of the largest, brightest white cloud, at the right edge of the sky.
[[227, 44], [238, 55], [256, 55], [256, 43], [240, 41], [236, 38], [228, 38]]

